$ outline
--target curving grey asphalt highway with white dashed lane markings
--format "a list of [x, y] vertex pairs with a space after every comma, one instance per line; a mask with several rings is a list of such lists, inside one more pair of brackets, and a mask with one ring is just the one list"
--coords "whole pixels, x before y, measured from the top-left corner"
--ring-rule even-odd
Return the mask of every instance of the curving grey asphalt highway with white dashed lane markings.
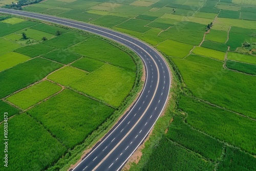
[[120, 170], [151, 131], [167, 102], [171, 81], [170, 72], [161, 55], [136, 38], [99, 26], [26, 11], [0, 8], [0, 12], [36, 18], [95, 33], [129, 47], [141, 57], [146, 69], [146, 79], [139, 98], [101, 142], [97, 143], [73, 169], [75, 171]]

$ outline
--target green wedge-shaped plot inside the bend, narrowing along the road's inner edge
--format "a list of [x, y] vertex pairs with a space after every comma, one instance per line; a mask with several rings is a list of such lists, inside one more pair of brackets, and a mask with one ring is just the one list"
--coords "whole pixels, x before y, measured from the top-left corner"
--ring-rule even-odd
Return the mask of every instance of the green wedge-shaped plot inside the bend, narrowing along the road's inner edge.
[[[89, 46], [90, 48], [84, 48]], [[91, 37], [86, 41], [82, 41], [80, 44], [69, 48], [69, 50], [84, 57], [90, 57], [102, 62], [108, 62], [111, 63], [111, 65], [119, 66], [124, 69], [131, 71], [136, 70], [131, 56], [123, 51], [120, 51], [113, 45], [97, 38]]]

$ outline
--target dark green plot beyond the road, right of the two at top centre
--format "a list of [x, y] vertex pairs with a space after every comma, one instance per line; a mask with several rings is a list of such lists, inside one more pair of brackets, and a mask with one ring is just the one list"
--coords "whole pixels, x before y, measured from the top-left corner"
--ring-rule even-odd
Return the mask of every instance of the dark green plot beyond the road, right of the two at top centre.
[[145, 27], [145, 25], [147, 25], [149, 23], [150, 23], [150, 21], [147, 21], [147, 20], [132, 18], [116, 27], [144, 33], [146, 31], [150, 30], [150, 27]]

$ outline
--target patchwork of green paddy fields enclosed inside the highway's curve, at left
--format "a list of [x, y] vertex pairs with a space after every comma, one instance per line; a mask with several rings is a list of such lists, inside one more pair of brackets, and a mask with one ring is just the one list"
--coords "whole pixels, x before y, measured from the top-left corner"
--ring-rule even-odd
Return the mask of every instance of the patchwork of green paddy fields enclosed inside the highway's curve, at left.
[[[12, 139], [8, 169], [58, 170], [62, 160], [94, 141], [88, 137], [102, 134], [100, 126], [105, 131], [114, 124], [112, 115], [122, 114], [120, 106], [134, 98], [141, 64], [135, 54], [95, 35], [0, 16], [0, 111], [8, 112]], [[1, 115], [2, 129], [5, 122]]]

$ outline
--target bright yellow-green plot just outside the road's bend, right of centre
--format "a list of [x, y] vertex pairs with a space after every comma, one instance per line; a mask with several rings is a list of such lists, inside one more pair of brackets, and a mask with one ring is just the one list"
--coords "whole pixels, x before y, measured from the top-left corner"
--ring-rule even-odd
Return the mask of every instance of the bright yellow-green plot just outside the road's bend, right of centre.
[[193, 46], [173, 40], [166, 40], [159, 44], [157, 48], [168, 56], [183, 58], [189, 54]]

